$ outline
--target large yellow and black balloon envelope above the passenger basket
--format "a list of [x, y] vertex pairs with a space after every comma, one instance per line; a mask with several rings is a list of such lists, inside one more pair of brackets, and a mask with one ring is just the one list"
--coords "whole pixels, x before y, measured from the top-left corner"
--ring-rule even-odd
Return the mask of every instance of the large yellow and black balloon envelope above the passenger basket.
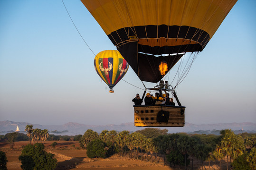
[[142, 81], [202, 51], [237, 0], [81, 0]]

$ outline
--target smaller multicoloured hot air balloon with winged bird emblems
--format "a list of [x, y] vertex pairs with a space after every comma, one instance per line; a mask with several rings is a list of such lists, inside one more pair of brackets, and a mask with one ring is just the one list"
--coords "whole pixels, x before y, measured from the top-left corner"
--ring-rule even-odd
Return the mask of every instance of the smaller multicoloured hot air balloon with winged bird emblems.
[[113, 87], [126, 74], [129, 64], [119, 51], [105, 50], [95, 56], [94, 67], [97, 74], [109, 86], [109, 92], [114, 93]]

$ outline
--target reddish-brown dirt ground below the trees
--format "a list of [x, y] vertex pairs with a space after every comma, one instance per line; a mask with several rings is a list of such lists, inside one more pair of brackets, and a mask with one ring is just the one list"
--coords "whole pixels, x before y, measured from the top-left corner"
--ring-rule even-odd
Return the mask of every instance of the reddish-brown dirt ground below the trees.
[[[163, 157], [159, 157], [159, 162], [151, 161], [141, 161], [136, 159], [130, 159], [129, 155], [126, 157], [114, 154], [113, 156], [102, 159], [95, 158], [90, 159], [86, 155], [85, 150], [76, 149], [79, 147], [77, 141], [56, 141], [58, 144], [53, 148], [51, 144], [55, 141], [45, 141], [43, 142], [46, 147], [46, 151], [55, 154], [57, 159], [57, 170], [178, 170], [176, 168], [171, 168], [169, 163], [163, 166]], [[19, 155], [21, 154], [22, 147], [27, 145], [29, 141], [15, 142], [14, 149], [10, 149], [9, 144], [5, 142], [0, 142], [0, 151], [3, 151], [7, 155], [7, 168], [8, 170], [21, 170]], [[150, 155], [148, 155], [150, 157]], [[146, 158], [144, 155], [143, 159]], [[155, 160], [155, 158], [153, 157]], [[216, 163], [216, 164], [215, 164]], [[192, 163], [190, 161], [190, 166], [188, 170], [192, 169]], [[227, 163], [225, 159], [222, 160], [222, 170], [227, 169]], [[181, 167], [184, 170], [184, 167]], [[204, 162], [203, 166], [198, 160], [194, 160], [194, 170], [209, 170], [209, 163]], [[219, 170], [219, 162], [211, 162], [210, 170]]]

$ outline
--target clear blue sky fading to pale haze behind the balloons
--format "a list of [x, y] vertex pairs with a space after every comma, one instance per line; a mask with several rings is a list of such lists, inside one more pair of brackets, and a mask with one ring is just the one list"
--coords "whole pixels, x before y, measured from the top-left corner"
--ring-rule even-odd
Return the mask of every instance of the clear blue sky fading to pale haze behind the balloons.
[[[64, 2], [95, 54], [116, 50], [80, 0]], [[256, 0], [238, 0], [178, 86], [186, 122], [256, 123], [255, 9]], [[61, 0], [0, 0], [0, 121], [133, 122], [143, 90], [120, 81], [109, 93], [94, 58]], [[143, 88], [132, 68], [123, 79]]]

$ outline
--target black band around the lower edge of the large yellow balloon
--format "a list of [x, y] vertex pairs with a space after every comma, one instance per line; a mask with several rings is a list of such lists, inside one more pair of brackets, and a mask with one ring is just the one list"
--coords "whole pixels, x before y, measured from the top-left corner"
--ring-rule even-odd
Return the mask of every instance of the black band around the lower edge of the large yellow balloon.
[[[146, 34], [146, 31], [147, 31], [147, 34]], [[127, 33], [129, 33], [128, 36], [127, 36]], [[207, 44], [210, 38], [209, 34], [206, 31], [200, 30], [199, 28], [189, 27], [189, 26], [169, 26], [169, 31], [168, 31], [168, 26], [166, 25], [125, 27], [112, 32], [111, 34], [108, 35], [108, 37], [111, 40], [111, 42], [116, 46], [119, 43], [128, 41], [129, 36], [136, 36], [136, 35], [138, 39], [161, 38], [161, 37], [166, 38], [168, 36], [167, 37], [168, 39], [169, 38], [186, 39], [186, 40], [198, 42], [199, 45], [200, 44], [203, 45], [203, 46], [201, 45], [201, 48], [199, 48], [198, 44], [190, 44], [190, 47], [187, 49], [186, 52], [202, 51], [203, 48], [205, 47], [205, 44]]]

